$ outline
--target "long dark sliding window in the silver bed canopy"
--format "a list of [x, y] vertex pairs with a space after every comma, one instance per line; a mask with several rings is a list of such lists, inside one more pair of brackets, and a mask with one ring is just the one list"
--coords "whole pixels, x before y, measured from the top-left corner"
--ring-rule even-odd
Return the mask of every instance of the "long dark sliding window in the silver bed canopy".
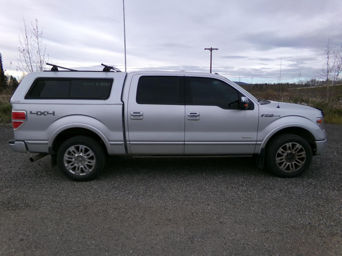
[[113, 79], [37, 79], [25, 99], [108, 99]]

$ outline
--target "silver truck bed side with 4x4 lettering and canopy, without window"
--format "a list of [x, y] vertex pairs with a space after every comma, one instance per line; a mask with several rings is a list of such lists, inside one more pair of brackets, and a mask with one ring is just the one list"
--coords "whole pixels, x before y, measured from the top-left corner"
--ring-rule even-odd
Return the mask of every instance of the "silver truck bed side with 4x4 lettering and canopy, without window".
[[[121, 102], [125, 76], [124, 72], [32, 72], [27, 74], [11, 99], [12, 109], [27, 112], [26, 123], [14, 131], [15, 140], [46, 141], [48, 143], [43, 152], [47, 152], [48, 146], [52, 145], [55, 136], [60, 131], [82, 127], [97, 133], [104, 141], [109, 154], [125, 153]], [[38, 77], [111, 78], [114, 79], [114, 83], [107, 100], [25, 99], [32, 82]], [[111, 146], [111, 144], [116, 146]], [[30, 147], [35, 149], [37, 146], [28, 145], [29, 151], [37, 152], [31, 150]]]

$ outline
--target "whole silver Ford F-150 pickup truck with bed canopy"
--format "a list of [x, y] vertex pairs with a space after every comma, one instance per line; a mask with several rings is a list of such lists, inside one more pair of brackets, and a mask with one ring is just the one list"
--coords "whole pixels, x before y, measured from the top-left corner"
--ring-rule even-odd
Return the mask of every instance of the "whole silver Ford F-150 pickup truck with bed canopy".
[[107, 155], [248, 157], [282, 177], [302, 174], [326, 146], [324, 113], [258, 100], [218, 74], [51, 71], [25, 76], [12, 99], [15, 152], [51, 155], [75, 181]]

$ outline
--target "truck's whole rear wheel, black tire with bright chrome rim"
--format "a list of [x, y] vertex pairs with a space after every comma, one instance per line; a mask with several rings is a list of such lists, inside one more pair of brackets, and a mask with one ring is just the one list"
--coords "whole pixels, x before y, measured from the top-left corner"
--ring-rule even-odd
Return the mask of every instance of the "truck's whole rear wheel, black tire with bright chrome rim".
[[94, 179], [103, 170], [105, 161], [106, 155], [100, 143], [88, 136], [68, 139], [57, 152], [58, 168], [73, 181]]

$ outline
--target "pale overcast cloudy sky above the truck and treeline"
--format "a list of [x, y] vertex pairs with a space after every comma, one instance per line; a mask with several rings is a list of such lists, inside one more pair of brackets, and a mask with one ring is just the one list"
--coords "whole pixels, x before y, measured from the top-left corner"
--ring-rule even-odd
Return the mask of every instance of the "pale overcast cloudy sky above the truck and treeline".
[[[122, 0], [0, 0], [0, 53], [14, 74], [18, 35], [38, 19], [50, 63], [124, 71]], [[342, 43], [341, 0], [125, 0], [127, 71], [213, 72], [238, 81], [277, 82], [292, 71], [314, 78], [325, 41]], [[340, 48], [341, 49], [341, 48]], [[12, 65], [10, 65], [12, 61]]]

